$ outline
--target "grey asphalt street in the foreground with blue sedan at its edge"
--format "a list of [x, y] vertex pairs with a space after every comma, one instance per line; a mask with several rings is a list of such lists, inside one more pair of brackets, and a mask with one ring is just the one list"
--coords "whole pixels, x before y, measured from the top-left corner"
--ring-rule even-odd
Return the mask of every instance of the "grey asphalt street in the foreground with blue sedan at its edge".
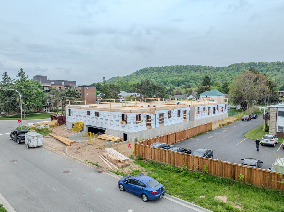
[[194, 211], [165, 198], [145, 203], [121, 192], [112, 176], [43, 147], [17, 144], [6, 134], [16, 121], [0, 121], [0, 193], [16, 211]]

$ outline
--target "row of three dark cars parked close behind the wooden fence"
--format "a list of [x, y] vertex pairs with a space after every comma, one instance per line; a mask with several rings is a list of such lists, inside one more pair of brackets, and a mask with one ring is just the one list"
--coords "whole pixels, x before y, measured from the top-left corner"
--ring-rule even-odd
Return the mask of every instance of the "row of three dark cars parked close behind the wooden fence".
[[201, 156], [201, 157], [205, 157], [205, 158], [213, 158], [213, 150], [210, 150], [210, 149], [202, 149], [201, 148], [201, 149], [195, 150], [192, 153], [192, 151], [190, 149], [185, 149], [185, 148], [182, 148], [182, 147], [177, 147], [177, 146], [173, 146], [173, 145], [169, 145], [169, 144], [161, 143], [161, 142], [152, 143], [150, 146], [161, 148], [161, 149], [167, 149], [167, 150], [170, 150], [170, 151], [180, 152], [180, 153], [197, 155], [197, 156]]

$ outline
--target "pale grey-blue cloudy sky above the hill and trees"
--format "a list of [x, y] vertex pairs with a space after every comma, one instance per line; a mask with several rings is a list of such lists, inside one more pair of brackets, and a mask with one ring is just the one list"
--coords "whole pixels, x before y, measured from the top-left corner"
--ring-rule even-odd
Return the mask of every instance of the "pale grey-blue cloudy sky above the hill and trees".
[[284, 1], [13, 0], [0, 74], [90, 85], [145, 67], [283, 61]]

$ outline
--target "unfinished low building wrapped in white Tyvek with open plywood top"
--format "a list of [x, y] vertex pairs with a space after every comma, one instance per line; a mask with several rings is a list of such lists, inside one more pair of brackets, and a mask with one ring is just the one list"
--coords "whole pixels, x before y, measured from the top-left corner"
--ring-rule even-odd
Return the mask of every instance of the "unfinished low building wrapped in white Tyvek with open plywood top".
[[135, 138], [154, 138], [228, 117], [227, 99], [202, 98], [180, 104], [168, 99], [103, 101], [67, 100], [66, 127], [71, 129], [76, 121], [83, 122], [83, 131], [133, 142]]

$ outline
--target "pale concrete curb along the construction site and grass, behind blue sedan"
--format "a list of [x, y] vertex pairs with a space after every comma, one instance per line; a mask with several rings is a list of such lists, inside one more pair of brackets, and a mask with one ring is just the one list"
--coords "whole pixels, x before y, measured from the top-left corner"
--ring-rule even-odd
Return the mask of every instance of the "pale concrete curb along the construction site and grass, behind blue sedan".
[[[59, 155], [63, 155], [63, 156], [65, 156], [65, 157], [67, 157], [67, 158], [76, 160], [76, 161], [79, 162], [79, 163], [83, 163], [83, 164], [85, 164], [85, 165], [87, 165], [87, 166], [89, 166], [89, 167], [91, 167], [91, 168], [93, 168], [93, 169], [98, 169], [98, 170], [99, 170], [99, 168], [97, 168], [96, 166], [94, 166], [94, 165], [92, 165], [92, 164], [90, 164], [90, 163], [87, 163], [87, 162], [84, 161], [84, 160], [81, 160], [81, 159], [79, 159], [79, 158], [75, 158], [75, 157], [69, 155], [68, 152], [67, 152], [67, 147], [66, 147], [66, 149], [65, 149], [65, 153], [66, 153], [66, 154], [61, 153], [61, 152], [59, 152], [59, 151], [57, 151], [57, 150], [54, 150], [54, 149], [52, 149], [52, 148], [50, 148], [50, 147], [48, 147], [48, 146], [45, 146], [45, 145], [43, 145], [43, 147], [46, 148], [46, 149], [49, 149], [49, 150], [51, 150], [51, 151], [53, 151], [53, 152], [55, 152], [55, 153], [58, 153]], [[117, 174], [115, 174], [115, 173], [113, 173], [113, 172], [109, 172], [109, 171], [106, 171], [106, 172], [103, 172], [103, 173], [105, 173], [105, 174], [107, 174], [107, 175], [109, 175], [109, 176], [112, 176], [112, 177], [114, 177], [114, 178], [116, 178], [116, 179], [118, 179], [118, 180], [123, 177], [123, 176], [117, 175]], [[0, 198], [1, 198], [1, 196], [0, 196]], [[167, 199], [167, 200], [169, 200], [169, 201], [172, 201], [172, 202], [174, 202], [174, 203], [177, 203], [177, 204], [179, 204], [179, 205], [185, 206], [186, 208], [190, 208], [190, 209], [192, 209], [192, 210], [195, 210], [195, 211], [197, 211], [197, 212], [212, 212], [212, 211], [210, 211], [210, 210], [208, 210], [208, 209], [202, 208], [201, 206], [195, 205], [195, 204], [193, 204], [193, 203], [187, 202], [187, 201], [185, 201], [185, 200], [179, 199], [179, 198], [177, 198], [177, 197], [171, 196], [171, 195], [166, 194], [166, 193], [164, 194], [163, 198], [165, 198], [165, 199]], [[11, 206], [11, 207], [12, 207], [12, 206]], [[14, 211], [10, 211], [10, 212], [14, 212]], [[16, 211], [15, 211], [15, 212], [16, 212]]]

